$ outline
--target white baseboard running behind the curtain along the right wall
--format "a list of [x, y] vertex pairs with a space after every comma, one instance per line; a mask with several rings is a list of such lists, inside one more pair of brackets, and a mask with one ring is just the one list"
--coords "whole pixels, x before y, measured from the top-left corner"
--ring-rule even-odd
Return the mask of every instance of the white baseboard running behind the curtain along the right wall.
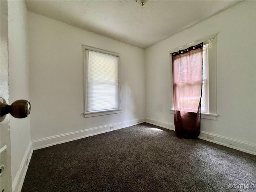
[[[170, 129], [170, 130], [175, 131], [174, 124], [171, 124], [171, 123], [160, 122], [160, 121], [154, 120], [152, 118], [146, 118], [145, 122], [156, 125], [156, 126], [160, 126], [162, 128], [166, 128], [166, 129]], [[210, 136], [214, 140], [208, 139], [207, 136]], [[256, 155], [256, 145], [252, 144], [252, 143], [235, 140], [235, 139], [232, 139], [232, 138], [228, 138], [228, 137], [208, 133], [208, 132], [205, 132], [205, 131], [201, 131], [198, 138], [200, 138], [202, 140], [209, 141], [209, 142], [213, 142], [213, 143], [216, 143], [216, 144], [219, 144], [219, 145], [223, 145], [223, 146], [226, 146], [226, 147], [229, 147], [229, 148], [240, 150], [240, 151], [243, 151], [243, 152], [246, 152], [246, 153]]]

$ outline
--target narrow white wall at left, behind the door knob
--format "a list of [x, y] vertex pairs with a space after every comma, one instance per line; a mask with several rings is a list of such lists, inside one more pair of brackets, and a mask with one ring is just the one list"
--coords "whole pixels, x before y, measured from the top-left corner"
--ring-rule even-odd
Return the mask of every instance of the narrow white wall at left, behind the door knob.
[[[9, 88], [10, 104], [29, 100], [29, 65], [27, 46], [27, 9], [24, 1], [8, 1]], [[30, 144], [30, 117], [10, 116], [12, 182]]]

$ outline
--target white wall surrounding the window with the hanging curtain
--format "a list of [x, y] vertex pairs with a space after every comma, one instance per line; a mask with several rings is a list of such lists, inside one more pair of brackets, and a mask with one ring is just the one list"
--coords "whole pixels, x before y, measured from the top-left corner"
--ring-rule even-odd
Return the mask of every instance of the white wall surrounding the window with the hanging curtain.
[[146, 117], [174, 123], [168, 110], [172, 100], [169, 50], [218, 33], [219, 116], [202, 119], [201, 130], [255, 145], [255, 6], [255, 1], [242, 2], [145, 50]]

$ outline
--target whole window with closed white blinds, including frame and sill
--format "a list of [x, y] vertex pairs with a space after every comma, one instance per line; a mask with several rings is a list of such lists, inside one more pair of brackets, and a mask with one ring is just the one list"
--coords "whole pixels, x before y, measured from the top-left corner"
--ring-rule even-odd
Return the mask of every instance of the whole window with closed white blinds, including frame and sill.
[[84, 46], [85, 117], [120, 113], [120, 54]]

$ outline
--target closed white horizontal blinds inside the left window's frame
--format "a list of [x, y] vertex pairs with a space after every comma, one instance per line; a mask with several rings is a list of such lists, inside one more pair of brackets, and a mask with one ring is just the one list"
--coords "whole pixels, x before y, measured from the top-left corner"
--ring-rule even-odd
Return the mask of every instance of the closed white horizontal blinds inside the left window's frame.
[[87, 111], [120, 108], [118, 85], [118, 57], [86, 50]]

